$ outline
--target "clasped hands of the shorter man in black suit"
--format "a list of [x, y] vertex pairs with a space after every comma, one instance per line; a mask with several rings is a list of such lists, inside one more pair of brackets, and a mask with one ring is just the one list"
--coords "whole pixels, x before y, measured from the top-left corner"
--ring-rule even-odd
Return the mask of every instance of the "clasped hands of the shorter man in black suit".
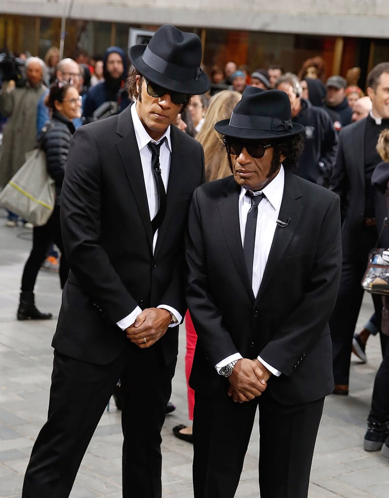
[[228, 395], [238, 403], [250, 401], [263, 393], [270, 375], [271, 372], [257, 359], [238, 360], [228, 377]]

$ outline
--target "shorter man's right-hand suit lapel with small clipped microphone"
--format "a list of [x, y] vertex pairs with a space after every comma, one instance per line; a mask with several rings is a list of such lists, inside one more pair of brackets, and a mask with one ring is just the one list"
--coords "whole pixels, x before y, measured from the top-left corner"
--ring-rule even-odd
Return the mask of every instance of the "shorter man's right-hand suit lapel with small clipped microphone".
[[278, 219], [283, 222], [287, 222], [289, 220], [289, 222], [287, 226], [277, 225], [276, 227], [272, 247], [270, 248], [268, 261], [265, 267], [265, 272], [257, 297], [255, 299], [256, 302], [265, 292], [267, 285], [271, 281], [274, 272], [279, 266], [280, 260], [285, 253], [285, 250], [291, 242], [292, 236], [294, 234], [303, 209], [300, 198], [301, 192], [298, 188], [294, 175], [290, 171], [285, 170], [284, 194]]

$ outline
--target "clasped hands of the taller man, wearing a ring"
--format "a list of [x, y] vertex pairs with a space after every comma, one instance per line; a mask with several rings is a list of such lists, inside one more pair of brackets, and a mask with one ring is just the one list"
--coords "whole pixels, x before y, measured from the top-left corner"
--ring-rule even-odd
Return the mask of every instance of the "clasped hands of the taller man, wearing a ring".
[[150, 348], [168, 330], [171, 314], [164, 308], [146, 308], [125, 329], [127, 339], [141, 349]]

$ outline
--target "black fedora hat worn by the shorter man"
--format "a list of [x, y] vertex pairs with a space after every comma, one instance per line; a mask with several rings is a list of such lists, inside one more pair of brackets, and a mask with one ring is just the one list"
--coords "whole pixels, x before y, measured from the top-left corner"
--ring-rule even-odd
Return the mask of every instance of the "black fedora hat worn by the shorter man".
[[229, 120], [215, 124], [222, 135], [251, 140], [286, 138], [302, 132], [304, 126], [292, 123], [291, 103], [281, 90], [248, 87]]

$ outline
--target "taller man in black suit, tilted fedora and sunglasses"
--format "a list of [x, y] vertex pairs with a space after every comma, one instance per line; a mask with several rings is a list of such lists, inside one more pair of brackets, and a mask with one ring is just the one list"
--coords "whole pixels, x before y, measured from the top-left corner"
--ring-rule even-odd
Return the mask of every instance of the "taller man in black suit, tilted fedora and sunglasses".
[[69, 496], [119, 377], [123, 497], [161, 497], [160, 432], [186, 311], [184, 229], [204, 180], [201, 145], [171, 124], [209, 88], [201, 50], [197, 35], [170, 25], [148, 46], [132, 46], [136, 103], [74, 136], [61, 205], [71, 270], [48, 421], [23, 498]]

